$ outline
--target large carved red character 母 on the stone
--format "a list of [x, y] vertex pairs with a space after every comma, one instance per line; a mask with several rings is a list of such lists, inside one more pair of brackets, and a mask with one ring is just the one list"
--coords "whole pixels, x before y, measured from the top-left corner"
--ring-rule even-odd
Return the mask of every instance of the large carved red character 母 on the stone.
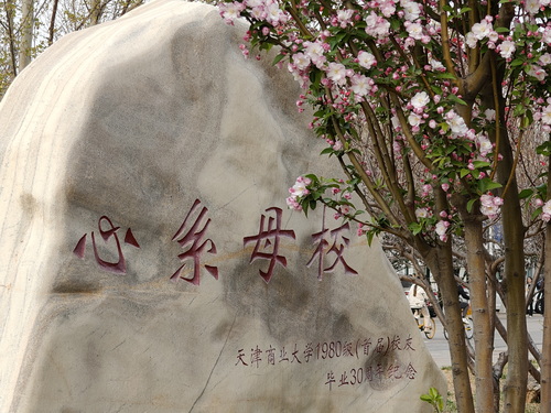
[[[278, 256], [280, 237], [289, 237], [295, 239], [293, 230], [281, 229], [281, 208], [268, 208], [267, 213], [274, 211], [276, 217], [268, 218], [268, 228], [264, 229], [266, 216], [262, 214], [260, 217], [260, 229], [257, 236], [245, 237], [244, 246], [247, 247], [250, 242], [256, 242], [255, 250], [250, 256], [249, 263], [256, 260], [270, 260], [268, 271], [259, 270], [260, 276], [268, 283], [273, 275], [276, 263], [287, 267], [287, 259], [283, 256]], [[270, 250], [270, 252], [261, 252]]]

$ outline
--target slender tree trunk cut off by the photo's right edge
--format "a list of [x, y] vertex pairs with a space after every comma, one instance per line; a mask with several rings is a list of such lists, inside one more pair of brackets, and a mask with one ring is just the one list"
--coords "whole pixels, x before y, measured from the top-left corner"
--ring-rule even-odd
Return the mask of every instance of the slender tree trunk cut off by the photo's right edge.
[[[551, 160], [550, 160], [551, 161]], [[548, 170], [548, 199], [551, 199], [551, 162]], [[551, 224], [545, 228], [543, 275], [543, 346], [541, 351], [541, 413], [551, 413]]]

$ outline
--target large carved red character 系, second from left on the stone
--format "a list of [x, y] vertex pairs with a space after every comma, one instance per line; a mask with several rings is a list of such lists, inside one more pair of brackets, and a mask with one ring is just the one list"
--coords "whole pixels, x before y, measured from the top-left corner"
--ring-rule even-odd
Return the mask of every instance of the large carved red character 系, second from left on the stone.
[[[185, 261], [188, 259], [193, 260], [193, 278], [187, 279], [181, 276], [182, 271], [185, 267], [184, 262], [171, 276], [171, 280], [176, 280], [181, 278], [182, 280], [185, 280], [194, 285], [199, 285], [201, 254], [205, 251], [205, 249], [208, 246], [210, 248], [207, 250], [207, 252], [212, 254], [216, 253], [216, 246], [212, 239], [208, 238], [205, 241], [203, 241], [203, 238], [205, 237], [205, 233], [208, 229], [208, 225], [210, 224], [210, 218], [206, 219], [205, 221], [205, 216], [208, 213], [208, 209], [206, 207], [203, 207], [198, 214], [195, 214], [198, 209], [199, 204], [201, 200], [195, 199], [192, 208], [190, 209], [184, 219], [184, 222], [176, 231], [174, 237], [172, 237], [172, 240], [176, 241], [182, 248], [187, 248], [187, 250], [179, 254], [177, 258], [180, 258], [181, 261]], [[191, 228], [187, 229], [187, 220], [192, 215], [197, 215], [197, 217], [195, 218], [195, 221], [191, 225]], [[203, 226], [203, 228], [199, 229], [201, 226]], [[187, 232], [185, 232], [186, 230]], [[204, 265], [204, 267], [205, 270], [207, 270], [210, 273], [210, 275], [213, 275], [216, 280], [218, 280], [217, 267], [213, 265]]]

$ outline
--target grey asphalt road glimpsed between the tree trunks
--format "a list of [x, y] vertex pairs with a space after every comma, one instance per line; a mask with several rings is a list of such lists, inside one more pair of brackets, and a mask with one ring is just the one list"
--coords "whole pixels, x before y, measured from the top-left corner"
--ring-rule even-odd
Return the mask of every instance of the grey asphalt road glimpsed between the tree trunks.
[[[501, 323], [506, 325], [506, 315], [505, 313], [498, 313], [498, 317], [501, 319]], [[538, 348], [541, 348], [542, 339], [543, 339], [543, 317], [540, 314], [534, 314], [532, 317], [527, 316], [528, 324], [528, 333], [532, 336], [533, 341]], [[434, 361], [439, 367], [451, 366], [450, 362], [450, 350], [447, 348], [447, 340], [444, 337], [444, 329], [442, 328], [442, 324], [436, 319], [436, 334], [432, 340], [424, 338], [424, 343], [429, 348]], [[424, 337], [424, 335], [423, 335]], [[473, 343], [474, 344], [474, 343]], [[499, 354], [506, 350], [505, 341], [500, 336], [496, 335], [494, 348], [494, 361], [497, 360]]]

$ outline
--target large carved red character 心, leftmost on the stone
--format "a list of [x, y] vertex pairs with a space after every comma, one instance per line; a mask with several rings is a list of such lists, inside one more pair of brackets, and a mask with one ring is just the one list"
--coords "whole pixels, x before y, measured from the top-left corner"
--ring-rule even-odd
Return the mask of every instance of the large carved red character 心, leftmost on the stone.
[[[104, 229], [102, 225], [107, 222], [108, 227]], [[115, 239], [115, 243], [117, 246], [117, 253], [119, 256], [117, 262], [109, 262], [105, 261], [101, 258], [99, 258], [97, 244], [96, 244], [96, 236], [94, 231], [91, 231], [91, 244], [94, 247], [94, 256], [96, 257], [96, 262], [105, 269], [106, 271], [114, 272], [116, 274], [126, 274], [127, 272], [127, 262], [125, 260], [125, 256], [122, 254], [122, 249], [120, 248], [120, 241], [119, 237], [117, 235], [117, 231], [120, 229], [120, 227], [115, 227], [111, 222], [111, 220], [107, 216], [101, 216], [98, 220], [98, 229], [99, 229], [99, 235], [104, 239], [105, 242], [109, 241], [110, 238]], [[86, 237], [88, 233], [85, 233], [77, 242], [75, 249], [73, 250], [73, 253], [77, 256], [78, 258], [84, 258], [85, 252], [86, 252]], [[132, 230], [129, 228], [127, 229], [127, 233], [125, 235], [125, 243], [129, 243], [136, 248], [140, 248], [140, 244], [136, 240]]]

